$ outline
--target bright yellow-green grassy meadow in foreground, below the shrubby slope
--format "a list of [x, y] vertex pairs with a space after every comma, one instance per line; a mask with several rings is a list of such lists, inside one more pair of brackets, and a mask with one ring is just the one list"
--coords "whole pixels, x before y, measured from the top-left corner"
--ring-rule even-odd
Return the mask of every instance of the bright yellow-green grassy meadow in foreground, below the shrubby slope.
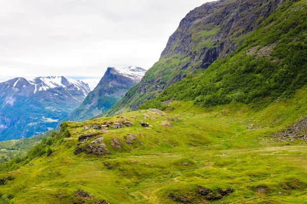
[[[293, 98], [269, 106], [232, 103], [199, 108], [175, 101], [166, 110], [167, 116], [153, 111], [126, 113], [122, 116], [135, 126], [95, 131], [96, 138], [103, 135], [113, 153], [104, 156], [73, 154], [78, 137], [86, 132], [82, 127], [117, 121], [121, 116], [71, 123], [72, 137], [53, 144], [51, 156], [34, 159], [35, 166], [3, 172], [2, 176], [16, 179], [0, 186], [0, 192], [14, 194], [15, 203], [70, 203], [78, 189], [111, 203], [176, 203], [168, 197], [170, 193], [206, 203], [209, 201], [197, 193], [203, 186], [213, 191], [234, 190], [212, 203], [304, 203], [307, 147], [299, 141], [285, 145], [259, 138], [287, 129], [306, 116], [306, 94], [304, 87]], [[143, 114], [150, 117], [144, 119]], [[169, 117], [180, 120], [176, 123]], [[141, 120], [149, 122], [151, 129], [141, 128]], [[165, 120], [174, 127], [162, 127]], [[249, 130], [251, 124], [256, 128]], [[141, 142], [127, 145], [127, 134]], [[114, 138], [122, 141], [120, 149], [111, 145]]]

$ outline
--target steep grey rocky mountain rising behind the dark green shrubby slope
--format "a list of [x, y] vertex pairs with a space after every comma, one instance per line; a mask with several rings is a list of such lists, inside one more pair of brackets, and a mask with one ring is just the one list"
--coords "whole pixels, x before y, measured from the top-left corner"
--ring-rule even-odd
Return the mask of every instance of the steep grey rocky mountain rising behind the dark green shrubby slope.
[[227, 0], [195, 8], [169, 38], [160, 60], [104, 115], [136, 110], [188, 74], [203, 72], [212, 62], [236, 50], [240, 39], [256, 30], [283, 2]]

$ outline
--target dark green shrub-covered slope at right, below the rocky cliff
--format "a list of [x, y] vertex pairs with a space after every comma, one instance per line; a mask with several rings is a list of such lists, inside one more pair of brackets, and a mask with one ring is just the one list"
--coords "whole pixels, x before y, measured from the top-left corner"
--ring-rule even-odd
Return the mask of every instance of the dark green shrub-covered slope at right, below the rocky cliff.
[[[235, 53], [215, 61], [204, 73], [168, 87], [141, 109], [158, 108], [158, 102], [170, 99], [208, 107], [291, 97], [307, 83], [306, 7], [305, 1], [283, 4], [261, 28], [245, 36]], [[252, 49], [255, 53], [248, 54]]]

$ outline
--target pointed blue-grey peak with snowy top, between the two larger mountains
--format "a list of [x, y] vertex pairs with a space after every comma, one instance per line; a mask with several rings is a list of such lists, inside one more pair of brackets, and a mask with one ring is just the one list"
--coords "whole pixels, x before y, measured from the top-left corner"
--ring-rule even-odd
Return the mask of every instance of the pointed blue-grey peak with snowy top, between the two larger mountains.
[[122, 69], [108, 67], [97, 87], [65, 120], [83, 121], [100, 115], [120, 100], [132, 86], [139, 83], [145, 72], [145, 69], [135, 66]]

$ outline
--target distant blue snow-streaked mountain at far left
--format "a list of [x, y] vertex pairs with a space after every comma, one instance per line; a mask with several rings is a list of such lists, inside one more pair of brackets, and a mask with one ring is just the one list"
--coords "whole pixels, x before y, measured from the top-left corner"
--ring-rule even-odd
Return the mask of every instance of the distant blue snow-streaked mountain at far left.
[[65, 77], [15, 78], [0, 83], [0, 140], [28, 138], [56, 127], [90, 92]]

